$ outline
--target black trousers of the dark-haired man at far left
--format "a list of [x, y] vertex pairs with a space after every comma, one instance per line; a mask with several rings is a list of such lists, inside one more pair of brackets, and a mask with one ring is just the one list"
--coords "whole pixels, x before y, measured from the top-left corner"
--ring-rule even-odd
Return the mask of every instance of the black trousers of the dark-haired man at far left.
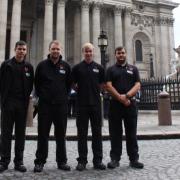
[[9, 100], [1, 109], [1, 160], [0, 164], [8, 165], [11, 160], [11, 141], [13, 127], [15, 125], [15, 165], [23, 164], [23, 152], [26, 130], [25, 102]]

